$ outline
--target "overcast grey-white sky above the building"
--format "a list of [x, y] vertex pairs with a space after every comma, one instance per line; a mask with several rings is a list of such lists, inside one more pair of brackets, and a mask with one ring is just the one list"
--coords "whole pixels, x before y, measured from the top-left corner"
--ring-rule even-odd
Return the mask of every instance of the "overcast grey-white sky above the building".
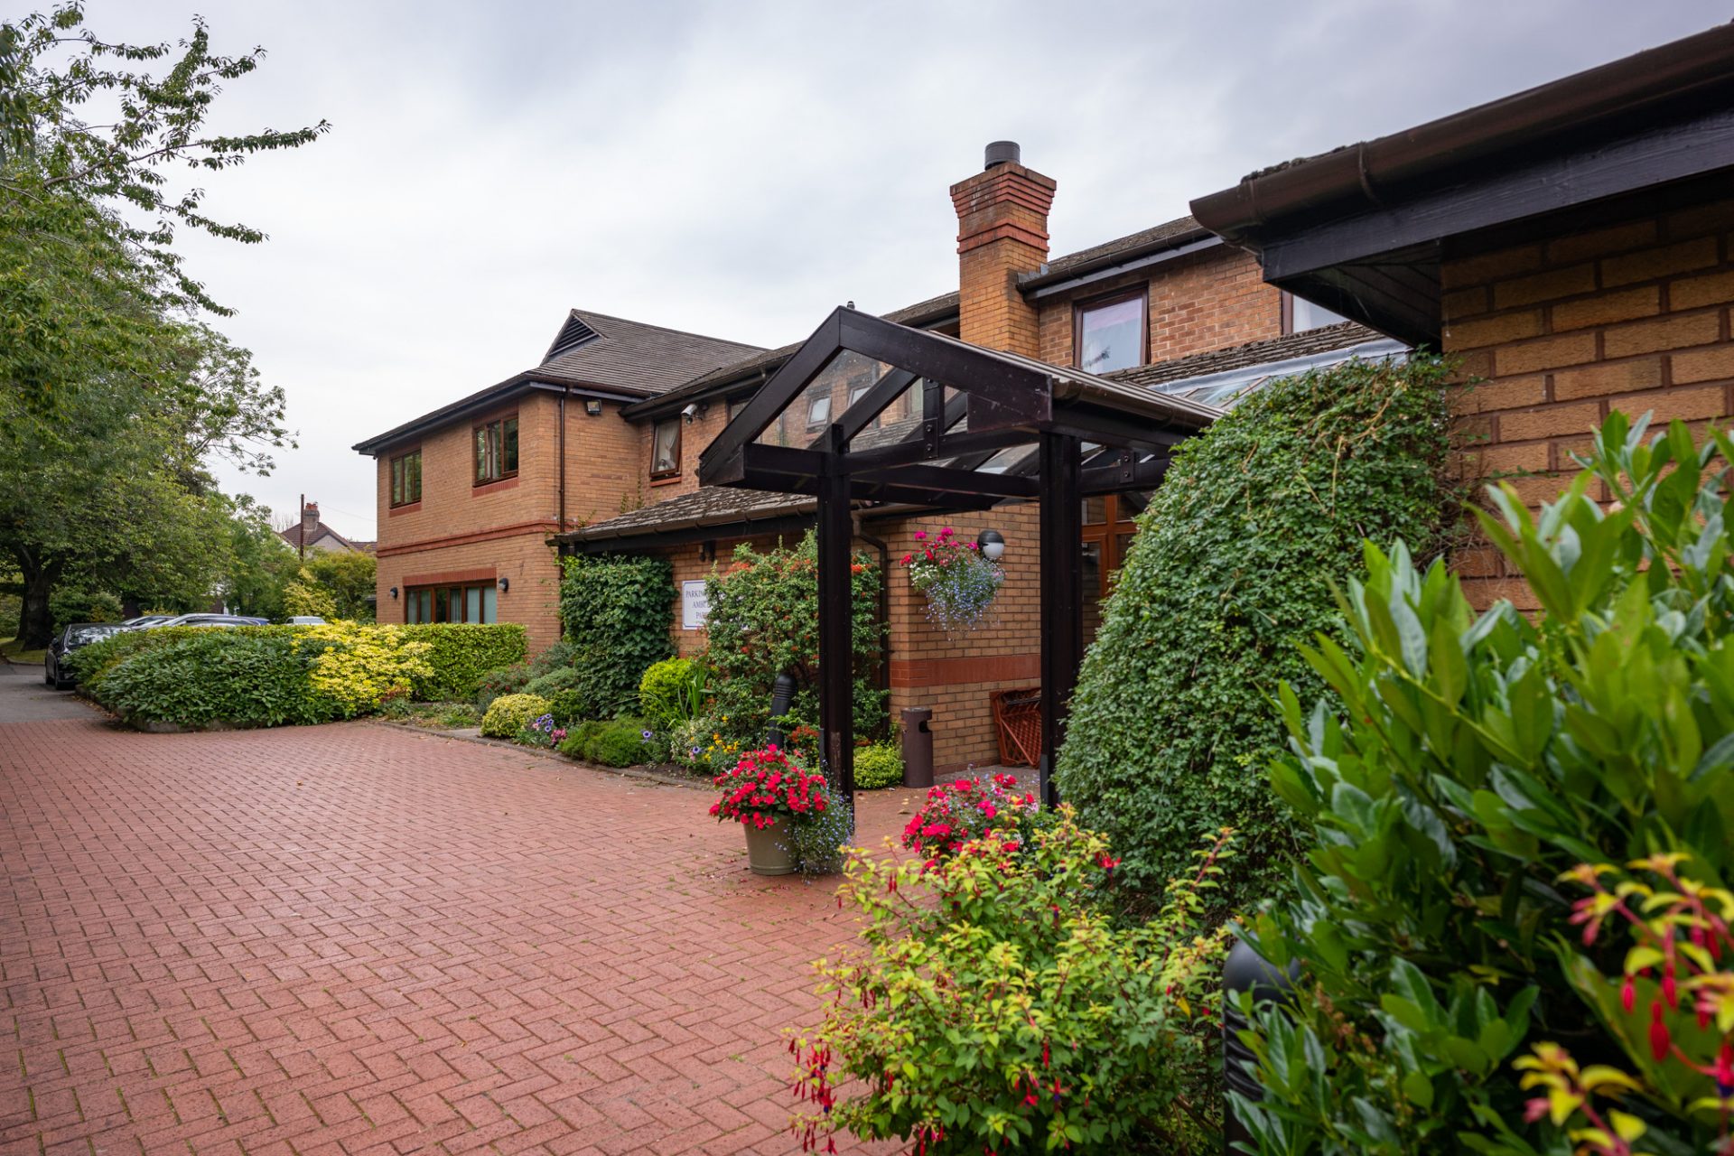
[[331, 133], [199, 180], [262, 246], [187, 237], [300, 449], [224, 471], [375, 536], [350, 445], [534, 366], [569, 307], [758, 345], [957, 288], [981, 146], [1059, 182], [1054, 255], [1254, 168], [1727, 21], [1708, 0], [383, 3], [90, 0], [106, 38], [205, 16], [265, 66], [215, 127]]

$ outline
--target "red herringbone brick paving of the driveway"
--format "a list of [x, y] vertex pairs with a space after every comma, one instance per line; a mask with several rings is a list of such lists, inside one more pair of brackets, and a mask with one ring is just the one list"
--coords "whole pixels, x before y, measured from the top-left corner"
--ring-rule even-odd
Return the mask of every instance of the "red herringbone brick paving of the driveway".
[[794, 1151], [851, 917], [704, 806], [359, 723], [0, 724], [0, 1151]]

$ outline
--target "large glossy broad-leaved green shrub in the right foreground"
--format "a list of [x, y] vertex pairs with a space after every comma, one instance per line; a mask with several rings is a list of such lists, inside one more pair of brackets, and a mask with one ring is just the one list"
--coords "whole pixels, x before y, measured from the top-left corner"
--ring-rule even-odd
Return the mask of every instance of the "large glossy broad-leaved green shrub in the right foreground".
[[[1734, 1009], [1680, 998], [1717, 971], [1711, 943], [1673, 922], [1689, 974], [1642, 936], [1597, 934], [1621, 901], [1656, 917], [1680, 880], [1734, 875], [1734, 444], [1699, 449], [1679, 423], [1644, 435], [1611, 414], [1540, 518], [1495, 490], [1483, 527], [1538, 620], [1505, 603], [1477, 617], [1443, 565], [1368, 548], [1342, 600], [1349, 646], [1321, 636], [1306, 655], [1332, 697], [1309, 714], [1283, 688], [1294, 752], [1271, 782], [1311, 851], [1294, 899], [1247, 927], [1304, 967], [1299, 998], [1248, 1036], [1257, 1151], [1727, 1142], [1713, 1057]], [[1628, 1147], [1585, 1128], [1590, 1092], [1620, 1088]]]

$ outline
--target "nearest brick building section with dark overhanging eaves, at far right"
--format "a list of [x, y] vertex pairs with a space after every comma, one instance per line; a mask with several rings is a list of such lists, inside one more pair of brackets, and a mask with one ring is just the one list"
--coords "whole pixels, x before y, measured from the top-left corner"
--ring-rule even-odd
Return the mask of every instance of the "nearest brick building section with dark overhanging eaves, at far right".
[[[1559, 494], [1611, 411], [1734, 414], [1734, 28], [1193, 201], [1268, 283], [1457, 354], [1472, 475]], [[1477, 605], [1531, 591], [1486, 544]]]

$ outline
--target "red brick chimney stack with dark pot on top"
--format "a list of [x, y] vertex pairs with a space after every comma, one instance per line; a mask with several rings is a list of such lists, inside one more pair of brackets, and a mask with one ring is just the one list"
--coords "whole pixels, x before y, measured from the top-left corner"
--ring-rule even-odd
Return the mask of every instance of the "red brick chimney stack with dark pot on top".
[[1040, 355], [1035, 307], [1018, 293], [1018, 274], [1047, 260], [1053, 203], [1054, 180], [1020, 165], [1011, 140], [987, 146], [987, 168], [952, 185], [964, 341]]

